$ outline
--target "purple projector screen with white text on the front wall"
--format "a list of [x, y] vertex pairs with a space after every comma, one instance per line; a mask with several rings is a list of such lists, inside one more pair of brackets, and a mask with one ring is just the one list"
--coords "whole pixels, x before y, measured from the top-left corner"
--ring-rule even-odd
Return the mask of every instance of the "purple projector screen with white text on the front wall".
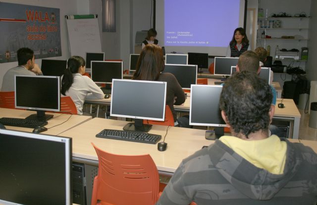
[[225, 55], [243, 27], [245, 0], [157, 0], [156, 30], [167, 53]]

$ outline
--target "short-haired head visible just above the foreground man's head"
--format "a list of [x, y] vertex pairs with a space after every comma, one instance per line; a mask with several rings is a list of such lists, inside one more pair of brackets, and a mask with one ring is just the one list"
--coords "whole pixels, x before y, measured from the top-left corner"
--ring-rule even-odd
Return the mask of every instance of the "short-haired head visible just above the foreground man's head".
[[243, 52], [238, 60], [237, 71], [248, 70], [260, 73], [260, 60], [253, 51]]

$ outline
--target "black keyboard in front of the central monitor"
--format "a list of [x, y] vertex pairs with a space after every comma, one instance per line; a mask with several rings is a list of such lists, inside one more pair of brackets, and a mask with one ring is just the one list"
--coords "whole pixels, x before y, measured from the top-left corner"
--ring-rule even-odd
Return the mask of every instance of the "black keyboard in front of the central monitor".
[[119, 139], [126, 141], [136, 141], [142, 143], [156, 144], [160, 139], [160, 135], [154, 135], [143, 132], [123, 131], [123, 130], [103, 130], [96, 137]]

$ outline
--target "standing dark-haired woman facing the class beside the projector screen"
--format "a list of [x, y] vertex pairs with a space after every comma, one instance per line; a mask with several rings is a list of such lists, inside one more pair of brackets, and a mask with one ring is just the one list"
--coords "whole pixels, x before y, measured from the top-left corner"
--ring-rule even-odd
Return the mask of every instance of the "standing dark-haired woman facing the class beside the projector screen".
[[241, 27], [236, 28], [227, 48], [226, 57], [239, 57], [243, 52], [250, 50], [251, 47], [245, 30]]

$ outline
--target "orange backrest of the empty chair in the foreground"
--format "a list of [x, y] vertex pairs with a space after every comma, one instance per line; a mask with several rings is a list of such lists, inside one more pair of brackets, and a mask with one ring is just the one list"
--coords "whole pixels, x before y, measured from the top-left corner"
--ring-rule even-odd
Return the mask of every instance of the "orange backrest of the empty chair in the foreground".
[[154, 205], [159, 199], [159, 172], [149, 154], [116, 155], [98, 148], [99, 169], [91, 205]]

